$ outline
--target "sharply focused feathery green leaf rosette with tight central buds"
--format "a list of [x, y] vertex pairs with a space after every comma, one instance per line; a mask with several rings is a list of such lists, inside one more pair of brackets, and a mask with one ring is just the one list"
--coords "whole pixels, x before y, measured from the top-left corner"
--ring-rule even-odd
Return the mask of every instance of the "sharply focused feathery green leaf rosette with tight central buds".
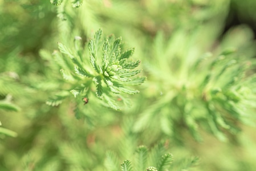
[[[140, 85], [145, 77], [133, 77], [141, 72], [141, 69], [134, 70], [139, 66], [140, 60], [129, 60], [134, 48], [121, 52], [121, 38], [114, 39], [113, 36], [109, 36], [102, 42], [101, 35], [100, 29], [96, 31], [94, 38], [90, 39], [88, 54], [87, 51], [83, 53], [82, 50], [71, 49], [58, 43], [61, 54], [54, 53], [55, 61], [61, 68], [63, 79], [71, 84], [72, 88], [68, 91], [74, 97], [88, 98], [91, 93], [101, 101], [101, 104], [120, 110], [117, 104], [119, 101], [128, 103], [122, 94], [139, 93], [130, 86]], [[58, 105], [65, 97], [65, 92], [64, 95], [56, 95], [48, 100], [47, 104]]]

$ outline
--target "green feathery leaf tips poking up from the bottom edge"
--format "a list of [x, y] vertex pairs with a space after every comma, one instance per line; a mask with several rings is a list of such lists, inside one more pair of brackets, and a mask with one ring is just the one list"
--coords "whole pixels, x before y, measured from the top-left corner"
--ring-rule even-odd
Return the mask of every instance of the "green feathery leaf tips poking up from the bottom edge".
[[121, 163], [120, 169], [118, 169], [119, 160], [113, 152], [107, 152], [105, 158], [105, 167], [108, 171], [121, 170], [121, 171], [133, 171], [133, 170], [150, 170], [150, 171], [165, 171], [165, 170], [190, 170], [198, 164], [198, 158], [194, 157], [190, 160], [183, 159], [177, 164], [173, 163], [173, 155], [171, 153], [165, 153], [165, 147], [163, 143], [155, 145], [150, 151], [144, 145], [137, 147], [134, 152], [132, 160], [125, 160]]

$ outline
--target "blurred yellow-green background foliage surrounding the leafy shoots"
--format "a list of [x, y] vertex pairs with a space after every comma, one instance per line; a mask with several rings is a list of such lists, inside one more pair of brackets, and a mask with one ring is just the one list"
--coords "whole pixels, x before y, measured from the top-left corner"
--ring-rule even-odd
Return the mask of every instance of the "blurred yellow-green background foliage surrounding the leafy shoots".
[[[150, 127], [138, 121], [140, 113], [182, 82], [170, 76], [177, 74], [180, 59], [190, 63], [230, 45], [255, 58], [255, 8], [254, 0], [84, 0], [79, 8], [69, 0], [60, 6], [0, 0], [0, 100], [12, 104], [0, 108], [0, 121], [18, 135], [0, 134], [0, 170], [104, 170], [107, 150], [116, 152], [121, 163], [136, 146], [151, 148], [161, 140], [169, 144], [166, 151], [174, 161], [200, 157], [195, 170], [255, 170], [255, 127], [238, 123], [241, 130], [226, 141], [200, 129], [203, 140], [198, 142], [184, 125], [173, 125], [171, 135], [157, 119], [147, 123]], [[45, 103], [61, 80], [47, 56], [58, 50], [57, 42], [68, 46], [75, 36], [86, 47], [99, 28], [104, 36], [122, 36], [125, 48], [135, 47], [132, 58], [141, 60], [147, 82], [131, 96], [131, 107], [117, 112], [88, 103], [84, 119], [78, 120], [72, 96], [58, 107]], [[177, 59], [170, 60], [172, 54]], [[178, 113], [166, 106], [162, 110]]]

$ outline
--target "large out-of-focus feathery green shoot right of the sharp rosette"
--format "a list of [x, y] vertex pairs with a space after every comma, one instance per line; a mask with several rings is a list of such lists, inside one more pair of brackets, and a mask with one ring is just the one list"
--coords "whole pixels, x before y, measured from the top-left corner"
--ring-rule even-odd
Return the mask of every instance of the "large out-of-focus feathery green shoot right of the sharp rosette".
[[[197, 34], [197, 31], [199, 30], [194, 34]], [[237, 36], [243, 34], [243, 31], [243, 29], [238, 30]], [[192, 34], [185, 38], [185, 31], [177, 31], [177, 38], [188, 39], [185, 42], [194, 41], [193, 36]], [[170, 51], [178, 40], [176, 38], [168, 40], [165, 43], [166, 48], [162, 49], [165, 55], [161, 58], [165, 62], [153, 61], [147, 64], [147, 71], [151, 73], [155, 82], [165, 83], [168, 86], [161, 87], [161, 95], [155, 104], [140, 114], [134, 130], [140, 132], [145, 128], [155, 127], [147, 123], [152, 123], [158, 118], [157, 120], [161, 121], [159, 128], [166, 135], [174, 136], [176, 128], [181, 124], [185, 125], [198, 141], [202, 140], [199, 128], [204, 128], [218, 139], [225, 141], [227, 134], [239, 131], [237, 121], [253, 124], [251, 120], [255, 119], [253, 113], [256, 107], [252, 103], [256, 98], [253, 85], [256, 82], [255, 74], [251, 71], [255, 68], [255, 59], [243, 56], [239, 44], [224, 47], [227, 39], [221, 43], [223, 47], [216, 48], [217, 52], [213, 54], [208, 52], [201, 57], [196, 56], [198, 52], [196, 55], [190, 55], [190, 51], [196, 48], [193, 46], [186, 52], [174, 49]], [[163, 42], [165, 40], [160, 33], [155, 43]], [[158, 48], [155, 53], [159, 53]], [[174, 70], [170, 66], [175, 60], [178, 60], [179, 67], [173, 66]], [[161, 71], [156, 72], [153, 68], [156, 63], [161, 65]], [[168, 82], [165, 81], [166, 78], [169, 78]], [[171, 111], [179, 115], [170, 115]]]

